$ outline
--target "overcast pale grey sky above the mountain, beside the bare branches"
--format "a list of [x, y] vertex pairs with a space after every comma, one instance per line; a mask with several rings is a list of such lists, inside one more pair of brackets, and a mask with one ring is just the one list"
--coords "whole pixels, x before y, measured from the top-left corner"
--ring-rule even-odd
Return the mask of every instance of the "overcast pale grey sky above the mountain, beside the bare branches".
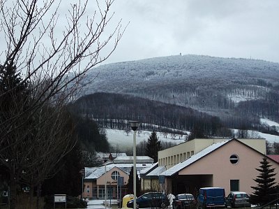
[[195, 54], [279, 62], [278, 0], [115, 0], [130, 22], [105, 63]]

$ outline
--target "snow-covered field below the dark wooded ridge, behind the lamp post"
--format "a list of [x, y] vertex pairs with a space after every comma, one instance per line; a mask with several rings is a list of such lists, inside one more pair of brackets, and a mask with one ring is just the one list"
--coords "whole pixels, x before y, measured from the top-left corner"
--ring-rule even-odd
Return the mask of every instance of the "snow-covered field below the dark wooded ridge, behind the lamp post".
[[[121, 147], [121, 148], [130, 148], [133, 147], [133, 131], [130, 131], [128, 134], [125, 130], [116, 130], [116, 129], [105, 129], [107, 140], [113, 147]], [[136, 143], [139, 144], [144, 140], [148, 140], [149, 136], [151, 136], [152, 131], [137, 131], [136, 135]], [[167, 138], [163, 135], [162, 132], [156, 132], [159, 140], [165, 142], [172, 142], [172, 143], [183, 143], [185, 142], [185, 136], [176, 134], [175, 139], [171, 138], [171, 134], [167, 134]], [[179, 139], [180, 136], [180, 139]]]

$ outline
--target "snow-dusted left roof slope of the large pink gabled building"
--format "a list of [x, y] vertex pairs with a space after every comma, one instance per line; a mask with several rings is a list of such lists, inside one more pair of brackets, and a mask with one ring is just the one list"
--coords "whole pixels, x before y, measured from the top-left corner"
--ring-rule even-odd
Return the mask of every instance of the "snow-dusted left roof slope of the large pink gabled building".
[[192, 155], [185, 161], [182, 161], [181, 163], [172, 166], [172, 168], [169, 168], [167, 171], [161, 173], [161, 175], [166, 175], [166, 176], [174, 175], [175, 173], [181, 171], [183, 168], [186, 168], [190, 164], [193, 164], [198, 159], [201, 159], [202, 157], [206, 156], [206, 154], [209, 154], [210, 152], [213, 152], [214, 150], [218, 149], [218, 147], [225, 145], [225, 143], [228, 143], [229, 141], [230, 140], [225, 140], [219, 143], [214, 143], [213, 145], [206, 147], [204, 150], [197, 152], [197, 154]]

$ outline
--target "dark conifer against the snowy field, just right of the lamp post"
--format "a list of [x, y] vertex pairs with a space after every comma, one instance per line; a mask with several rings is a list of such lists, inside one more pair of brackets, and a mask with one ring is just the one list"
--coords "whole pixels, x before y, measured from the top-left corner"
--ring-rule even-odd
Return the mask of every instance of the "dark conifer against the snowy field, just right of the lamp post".
[[155, 131], [151, 133], [151, 136], [149, 136], [146, 147], [145, 147], [145, 154], [152, 159], [154, 159], [154, 162], [158, 161], [158, 151], [161, 150], [161, 142], [159, 138], [157, 137], [157, 134]]

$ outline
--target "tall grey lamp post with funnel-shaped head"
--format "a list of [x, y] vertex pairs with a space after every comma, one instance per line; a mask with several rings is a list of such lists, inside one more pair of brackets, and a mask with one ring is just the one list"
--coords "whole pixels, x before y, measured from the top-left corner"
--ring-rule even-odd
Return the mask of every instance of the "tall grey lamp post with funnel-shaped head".
[[134, 179], [133, 179], [133, 186], [134, 186], [134, 209], [137, 209], [137, 203], [136, 203], [136, 199], [137, 199], [137, 183], [136, 183], [136, 175], [137, 175], [137, 166], [136, 166], [136, 141], [135, 141], [135, 135], [137, 133], [137, 127], [140, 126], [140, 122], [139, 121], [129, 121], [130, 127], [133, 129], [134, 131], [134, 137], [133, 137], [133, 175], [134, 175]]

